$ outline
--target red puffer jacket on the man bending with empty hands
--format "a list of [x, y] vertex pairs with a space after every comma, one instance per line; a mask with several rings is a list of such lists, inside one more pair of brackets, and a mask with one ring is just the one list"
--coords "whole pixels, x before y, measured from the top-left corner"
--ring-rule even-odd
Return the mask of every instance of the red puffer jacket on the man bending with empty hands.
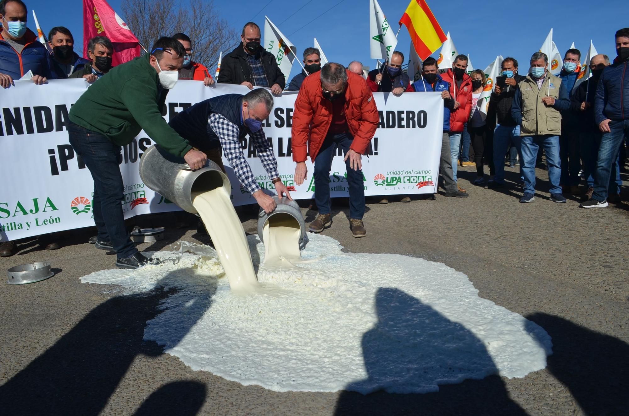
[[[380, 121], [374, 95], [365, 80], [347, 71], [345, 118], [353, 135], [350, 149], [364, 155]], [[292, 115], [292, 160], [306, 161], [306, 144], [314, 162], [332, 121], [332, 102], [323, 97], [321, 77], [306, 77]]]

